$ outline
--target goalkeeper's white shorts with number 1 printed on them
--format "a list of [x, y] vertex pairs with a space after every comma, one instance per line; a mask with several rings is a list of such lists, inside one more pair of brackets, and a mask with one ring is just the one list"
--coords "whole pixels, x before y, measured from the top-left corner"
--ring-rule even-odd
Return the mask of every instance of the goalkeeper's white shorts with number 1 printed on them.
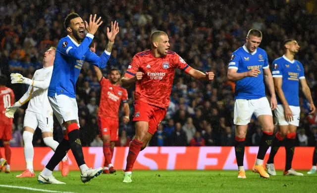
[[53, 112], [48, 112], [47, 115], [43, 115], [26, 110], [23, 127], [31, 127], [36, 130], [38, 126], [42, 133], [53, 132]]

